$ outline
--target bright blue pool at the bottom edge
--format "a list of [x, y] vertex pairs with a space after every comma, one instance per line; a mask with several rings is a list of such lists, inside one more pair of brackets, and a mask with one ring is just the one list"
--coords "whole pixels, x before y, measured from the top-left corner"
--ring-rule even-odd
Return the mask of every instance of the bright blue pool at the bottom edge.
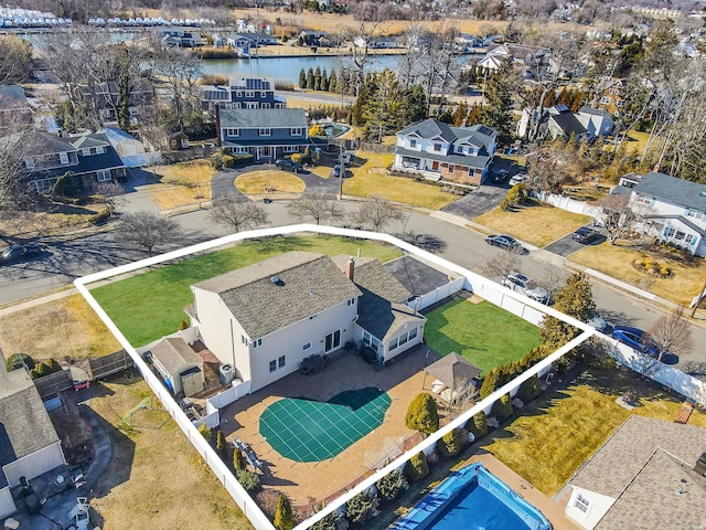
[[544, 515], [483, 464], [453, 473], [393, 530], [550, 530]]

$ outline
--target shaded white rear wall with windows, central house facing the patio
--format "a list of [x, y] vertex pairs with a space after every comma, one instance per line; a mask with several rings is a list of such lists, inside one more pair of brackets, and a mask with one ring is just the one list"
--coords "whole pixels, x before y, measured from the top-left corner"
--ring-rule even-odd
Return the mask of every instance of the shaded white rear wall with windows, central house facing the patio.
[[[317, 318], [300, 320], [271, 335], [263, 337], [263, 346], [252, 350], [252, 383], [250, 391], [274, 383], [299, 370], [304, 357], [312, 353], [323, 354], [327, 335], [341, 330], [341, 344], [353, 339], [353, 322], [357, 316], [357, 300], [352, 306], [347, 303], [339, 304], [317, 315]], [[255, 337], [254, 337], [255, 338]], [[311, 343], [311, 348], [302, 350]], [[279, 368], [279, 358], [286, 357], [286, 364]], [[277, 369], [270, 373], [269, 363], [276, 361]]]

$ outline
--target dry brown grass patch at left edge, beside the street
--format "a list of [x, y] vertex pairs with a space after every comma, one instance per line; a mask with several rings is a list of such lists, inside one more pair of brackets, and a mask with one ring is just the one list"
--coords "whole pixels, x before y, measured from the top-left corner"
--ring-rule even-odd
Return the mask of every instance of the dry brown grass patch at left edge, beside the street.
[[[38, 330], [45, 332], [38, 333]], [[62, 360], [105, 356], [120, 349], [113, 333], [81, 295], [0, 317], [6, 356], [23, 352], [32, 359]]]

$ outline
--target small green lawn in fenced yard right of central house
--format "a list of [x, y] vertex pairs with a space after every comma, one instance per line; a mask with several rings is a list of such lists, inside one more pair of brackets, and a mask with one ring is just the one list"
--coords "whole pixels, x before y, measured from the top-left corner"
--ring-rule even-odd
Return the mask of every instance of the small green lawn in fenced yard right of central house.
[[539, 346], [539, 328], [489, 301], [471, 304], [454, 297], [426, 317], [427, 343], [443, 356], [456, 351], [483, 374]]

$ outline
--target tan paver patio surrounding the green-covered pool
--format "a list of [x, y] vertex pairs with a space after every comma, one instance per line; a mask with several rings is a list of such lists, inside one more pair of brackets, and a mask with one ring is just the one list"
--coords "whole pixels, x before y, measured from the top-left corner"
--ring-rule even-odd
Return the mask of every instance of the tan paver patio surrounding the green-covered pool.
[[[263, 485], [286, 492], [295, 505], [323, 499], [370, 473], [365, 453], [379, 447], [389, 437], [415, 434], [405, 425], [405, 414], [411, 399], [422, 391], [425, 363], [439, 356], [422, 344], [383, 370], [375, 371], [359, 356], [350, 353], [330, 362], [313, 375], [292, 373], [265, 389], [244, 396], [222, 410], [222, 428], [228, 442], [240, 438], [249, 444], [263, 462]], [[426, 381], [429, 391], [430, 378]], [[374, 386], [392, 399], [383, 424], [371, 434], [331, 459], [298, 463], [280, 456], [259, 433], [259, 418], [265, 409], [282, 398], [328, 401], [346, 390]], [[226, 423], [227, 422], [227, 423]]]

